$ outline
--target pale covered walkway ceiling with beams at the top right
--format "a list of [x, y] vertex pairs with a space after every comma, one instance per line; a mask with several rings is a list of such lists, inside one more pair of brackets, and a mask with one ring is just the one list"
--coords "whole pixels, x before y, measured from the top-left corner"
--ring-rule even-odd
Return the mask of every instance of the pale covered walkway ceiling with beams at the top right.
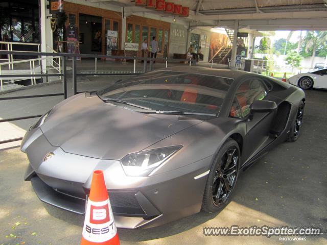
[[[112, 7], [126, 7], [129, 13], [154, 12], [135, 7], [131, 0], [89, 0]], [[168, 1], [167, 1], [168, 2]], [[190, 7], [190, 26], [252, 30], [327, 30], [327, 0], [174, 0]], [[158, 13], [158, 12], [157, 12]], [[161, 16], [169, 14], [160, 13]]]

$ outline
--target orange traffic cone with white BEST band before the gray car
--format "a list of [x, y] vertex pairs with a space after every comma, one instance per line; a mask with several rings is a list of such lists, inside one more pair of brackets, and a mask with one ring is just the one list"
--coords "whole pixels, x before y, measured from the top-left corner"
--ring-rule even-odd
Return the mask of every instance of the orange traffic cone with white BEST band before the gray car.
[[81, 245], [120, 245], [102, 170], [93, 172]]

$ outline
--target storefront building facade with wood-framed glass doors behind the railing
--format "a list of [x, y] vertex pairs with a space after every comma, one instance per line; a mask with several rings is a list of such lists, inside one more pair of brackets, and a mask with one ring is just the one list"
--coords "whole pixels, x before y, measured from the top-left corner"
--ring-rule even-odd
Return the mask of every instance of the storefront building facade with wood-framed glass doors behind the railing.
[[[53, 0], [56, 2], [56, 0]], [[57, 0], [58, 2], [59, 0]], [[47, 47], [59, 52], [79, 52], [82, 54], [111, 54], [108, 48], [108, 33], [115, 34], [116, 50], [124, 50], [125, 43], [138, 44], [137, 56], [141, 56], [142, 42], [150, 42], [155, 36], [158, 41], [159, 58], [172, 58], [174, 54], [186, 54], [192, 44], [195, 52], [201, 47], [203, 61], [210, 57], [212, 32], [210, 28], [189, 29], [189, 20], [174, 18], [174, 15], [160, 15], [155, 12], [133, 12], [121, 6], [112, 7], [104, 3], [88, 0], [64, 0], [62, 15], [57, 14], [57, 27], [51, 29], [51, 4], [45, 0], [22, 0], [0, 3], [1, 39], [12, 42], [41, 43], [42, 51]], [[75, 50], [67, 47], [67, 27], [74, 27]], [[110, 34], [111, 35], [111, 34]], [[222, 39], [227, 36], [222, 35]]]

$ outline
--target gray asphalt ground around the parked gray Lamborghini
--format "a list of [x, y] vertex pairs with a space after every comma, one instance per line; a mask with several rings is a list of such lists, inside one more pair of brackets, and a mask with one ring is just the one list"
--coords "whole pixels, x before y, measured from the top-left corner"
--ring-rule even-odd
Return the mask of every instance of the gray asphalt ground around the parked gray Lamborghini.
[[[302, 135], [265, 155], [238, 180], [219, 214], [198, 213], [148, 230], [119, 229], [121, 244], [327, 244], [327, 91], [307, 93]], [[79, 244], [83, 217], [41, 203], [24, 182], [27, 158], [0, 151], [0, 244]], [[204, 236], [204, 227], [320, 227], [306, 241], [279, 237]]]

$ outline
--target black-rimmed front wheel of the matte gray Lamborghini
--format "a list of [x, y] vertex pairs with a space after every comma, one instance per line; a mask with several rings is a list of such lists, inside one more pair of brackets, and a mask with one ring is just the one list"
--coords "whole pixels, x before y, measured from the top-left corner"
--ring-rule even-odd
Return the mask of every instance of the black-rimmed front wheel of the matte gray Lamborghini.
[[[232, 155], [230, 156], [230, 154]], [[230, 156], [230, 158], [228, 156]], [[226, 167], [229, 159], [231, 159], [231, 161], [229, 161], [227, 168], [223, 169]], [[203, 211], [209, 213], [218, 212], [230, 202], [231, 194], [235, 189], [239, 176], [240, 159], [241, 154], [238, 143], [231, 138], [227, 139], [215, 156], [209, 171], [203, 194]], [[229, 190], [225, 187], [227, 185]], [[220, 192], [218, 193], [219, 190]], [[217, 195], [220, 198], [217, 198]]]

